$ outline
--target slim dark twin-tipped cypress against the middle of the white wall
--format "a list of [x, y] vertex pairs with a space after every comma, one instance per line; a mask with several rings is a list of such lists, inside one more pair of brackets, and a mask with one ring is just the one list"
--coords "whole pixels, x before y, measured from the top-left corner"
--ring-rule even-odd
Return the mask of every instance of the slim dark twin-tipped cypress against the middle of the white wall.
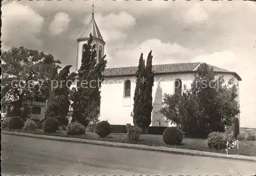
[[134, 93], [133, 122], [145, 132], [151, 124], [152, 88], [154, 85], [154, 72], [152, 71], [152, 51], [147, 56], [146, 67], [143, 54], [140, 55], [138, 70], [136, 72], [136, 88]]

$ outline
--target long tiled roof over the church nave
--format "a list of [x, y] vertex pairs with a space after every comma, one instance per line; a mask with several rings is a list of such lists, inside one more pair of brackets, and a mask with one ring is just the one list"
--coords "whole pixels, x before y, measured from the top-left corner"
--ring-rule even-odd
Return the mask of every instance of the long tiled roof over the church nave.
[[[182, 73], [182, 72], [196, 72], [199, 65], [202, 62], [190, 62], [190, 63], [175, 63], [175, 64], [161, 64], [161, 65], [153, 65], [152, 69], [155, 71], [155, 74], [163, 74], [163, 73]], [[209, 65], [209, 64], [207, 64]], [[214, 65], [209, 65], [214, 68], [214, 71], [217, 73], [231, 73], [234, 77], [236, 77], [239, 81], [241, 81], [241, 77], [233, 71], [229, 71]], [[113, 77], [113, 76], [132, 76], [136, 74], [138, 67], [119, 67], [119, 68], [105, 68], [103, 75], [105, 77]]]

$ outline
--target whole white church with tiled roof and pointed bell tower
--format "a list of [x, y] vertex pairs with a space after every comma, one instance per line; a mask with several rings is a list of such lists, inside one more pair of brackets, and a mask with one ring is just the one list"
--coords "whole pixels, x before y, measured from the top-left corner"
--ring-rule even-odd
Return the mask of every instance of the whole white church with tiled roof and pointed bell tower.
[[[82, 59], [82, 48], [89, 40], [89, 34], [93, 36], [93, 44], [96, 45], [97, 62], [100, 57], [104, 56], [105, 41], [98, 29], [92, 13], [92, 19], [88, 28], [86, 28], [80, 37], [77, 39], [77, 64], [76, 70], [80, 68]], [[148, 51], [150, 52], [150, 51]], [[140, 53], [138, 53], [138, 58]], [[182, 94], [184, 85], [187, 88], [191, 87], [191, 83], [197, 76], [198, 63], [171, 63], [154, 65], [154, 51], [153, 51], [153, 70], [155, 71], [155, 81], [153, 87], [153, 111], [151, 126], [169, 127], [171, 124], [166, 121], [166, 118], [158, 113], [162, 107], [162, 99], [164, 93], [167, 94]], [[212, 66], [212, 65], [211, 65]], [[227, 83], [230, 78], [234, 79], [233, 84], [238, 86], [239, 95], [239, 81], [242, 79], [236, 72], [232, 72], [216, 66], [216, 77], [224, 76]], [[136, 67], [120, 67], [120, 68], [106, 68], [103, 72], [105, 77], [101, 84], [101, 103], [99, 119], [107, 120], [110, 124], [126, 124], [133, 125], [133, 118], [131, 112], [133, 111], [133, 98], [136, 86], [135, 73]], [[239, 96], [238, 96], [239, 102]], [[240, 116], [239, 116], [240, 122]]]

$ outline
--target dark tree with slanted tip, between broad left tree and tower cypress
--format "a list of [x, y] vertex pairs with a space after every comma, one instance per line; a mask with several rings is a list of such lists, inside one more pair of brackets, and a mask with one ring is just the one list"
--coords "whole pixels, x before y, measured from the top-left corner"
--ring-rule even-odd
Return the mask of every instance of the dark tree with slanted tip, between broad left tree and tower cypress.
[[[47, 102], [47, 117], [55, 117], [59, 121], [60, 124], [68, 124], [68, 120], [66, 116], [69, 112], [70, 107], [70, 85], [71, 82], [68, 80], [74, 80], [74, 78], [70, 78], [70, 67], [72, 65], [68, 65], [64, 67], [59, 73], [55, 76], [54, 82], [52, 85], [53, 91], [50, 93], [50, 98]], [[55, 75], [55, 72], [54, 72]], [[56, 85], [57, 84], [57, 85]], [[56, 88], [55, 88], [56, 87]]]

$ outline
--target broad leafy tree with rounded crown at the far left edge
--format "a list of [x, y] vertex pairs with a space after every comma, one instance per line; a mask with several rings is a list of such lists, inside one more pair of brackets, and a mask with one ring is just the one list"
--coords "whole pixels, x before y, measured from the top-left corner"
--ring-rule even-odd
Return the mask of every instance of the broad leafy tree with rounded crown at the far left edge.
[[22, 100], [33, 96], [48, 96], [51, 72], [60, 61], [52, 55], [25, 47], [2, 51], [2, 103], [18, 100], [13, 114], [21, 116]]

